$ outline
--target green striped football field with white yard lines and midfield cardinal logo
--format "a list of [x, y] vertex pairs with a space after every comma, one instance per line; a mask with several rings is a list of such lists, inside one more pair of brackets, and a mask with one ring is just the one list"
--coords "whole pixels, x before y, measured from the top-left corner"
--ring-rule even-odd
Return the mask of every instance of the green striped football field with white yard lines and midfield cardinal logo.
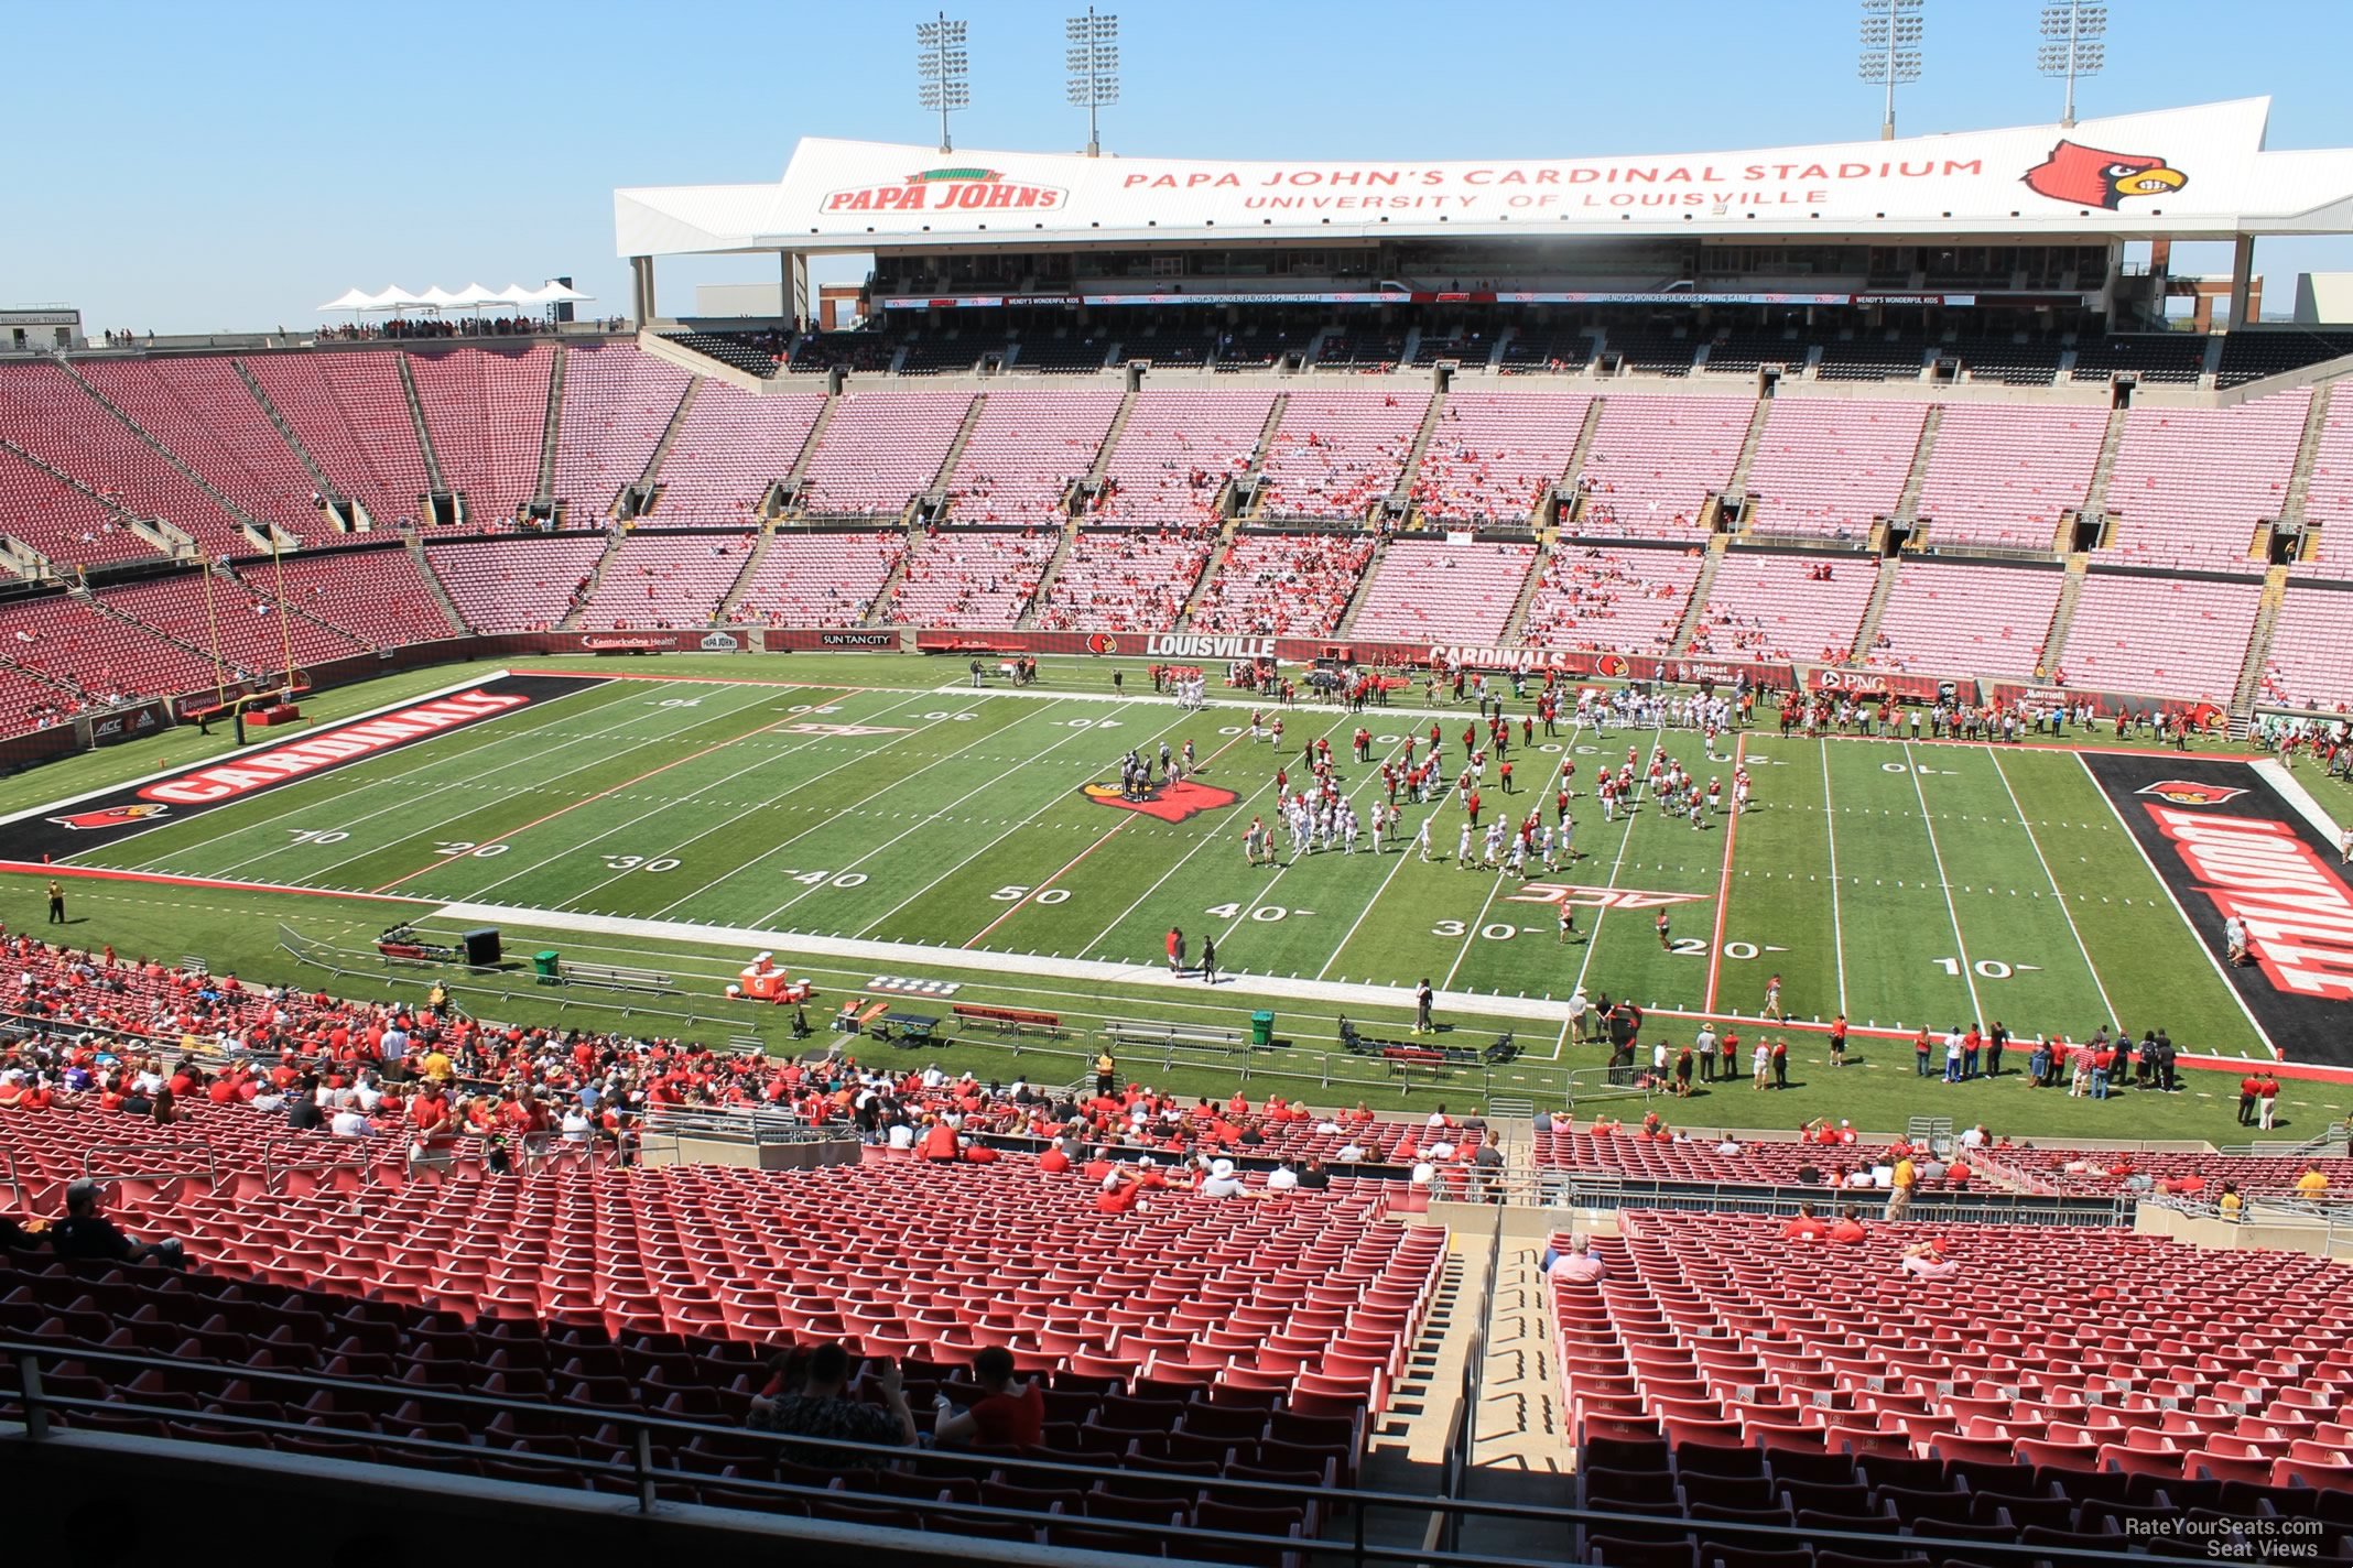
[[[1471, 710], [1301, 705], [1282, 712], [1278, 752], [1249, 736], [1247, 703], [1184, 712], [1136, 672], [1115, 693], [1108, 677], [1080, 684], [1061, 670], [1009, 691], [932, 684], [953, 670], [941, 663], [866, 668], [904, 684], [602, 670], [475, 682], [464, 691], [511, 705], [287, 778], [249, 748], [235, 755], [242, 773], [148, 785], [144, 816], [54, 830], [54, 853], [419, 900], [386, 903], [386, 924], [485, 905], [659, 922], [680, 938], [774, 933], [781, 954], [795, 938], [901, 943], [962, 964], [1160, 964], [1176, 926], [1195, 954], [1217, 940], [1235, 992], [1428, 978], [1452, 994], [1565, 1001], [1584, 987], [1668, 1013], [1755, 1016], [1779, 976], [1791, 1020], [2002, 1020], [2078, 1039], [2122, 1023], [2162, 1025], [2191, 1051], [2261, 1046], [2209, 943], [2075, 750], [1760, 729], [1711, 752], [1685, 729], [1562, 724], [1558, 738], [1539, 729], [1532, 750], [1515, 731], [1520, 790], [1504, 795], [1492, 776], [1485, 790], [1489, 816], [1541, 804], [1551, 823], [1553, 792], [1539, 785], [1579, 764], [1579, 858], [1555, 875], [1457, 865], [1452, 795], [1405, 804], [1402, 851], [1365, 837], [1355, 853], [1292, 853], [1278, 837], [1275, 865], [1252, 867], [1242, 830], [1252, 816], [1275, 820], [1275, 769], [1297, 780], [1301, 743], [1329, 738], [1341, 790], [1369, 809], [1379, 771], [1348, 759], [1360, 722], [1374, 759], [1407, 733], [1426, 748], [1435, 722], [1452, 776]], [[1162, 743], [1193, 745], [1195, 780], [1120, 802], [1120, 755]], [[1699, 827], [1647, 802], [1605, 823], [1591, 780], [1628, 748], [1722, 778], [1727, 804], [1744, 764], [1753, 804]], [[1428, 863], [1412, 853], [1424, 818]], [[1562, 903], [1577, 907], [1577, 940], [1560, 938]], [[1551, 1032], [1525, 1039], [1537, 1034], [1532, 1048], [1553, 1053]]]

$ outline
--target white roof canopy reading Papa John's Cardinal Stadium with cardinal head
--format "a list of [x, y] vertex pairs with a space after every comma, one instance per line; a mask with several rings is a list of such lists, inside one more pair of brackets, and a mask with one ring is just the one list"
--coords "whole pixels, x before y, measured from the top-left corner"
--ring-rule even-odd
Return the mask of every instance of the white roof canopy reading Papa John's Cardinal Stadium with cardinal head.
[[2271, 99], [1901, 141], [1527, 160], [1169, 160], [805, 139], [772, 186], [614, 190], [621, 256], [1518, 235], [2353, 233], [2353, 148]]

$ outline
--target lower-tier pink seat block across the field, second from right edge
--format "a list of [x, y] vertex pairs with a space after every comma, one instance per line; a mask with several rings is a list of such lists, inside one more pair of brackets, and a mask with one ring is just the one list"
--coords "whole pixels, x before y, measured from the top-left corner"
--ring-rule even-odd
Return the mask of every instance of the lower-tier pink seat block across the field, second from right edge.
[[2071, 686], [2228, 703], [2261, 597], [2252, 581], [2092, 571], [2052, 665]]

